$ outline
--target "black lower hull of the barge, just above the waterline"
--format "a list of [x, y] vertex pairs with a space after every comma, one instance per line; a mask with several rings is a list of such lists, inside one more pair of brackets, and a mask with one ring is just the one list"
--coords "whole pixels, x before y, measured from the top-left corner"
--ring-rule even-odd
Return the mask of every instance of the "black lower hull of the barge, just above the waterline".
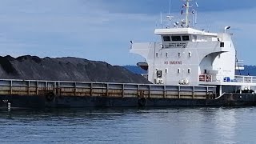
[[110, 98], [110, 97], [46, 97], [46, 96], [0, 96], [0, 107], [58, 108], [58, 107], [137, 107], [137, 106], [256, 106], [255, 94], [224, 94], [218, 99], [178, 98]]

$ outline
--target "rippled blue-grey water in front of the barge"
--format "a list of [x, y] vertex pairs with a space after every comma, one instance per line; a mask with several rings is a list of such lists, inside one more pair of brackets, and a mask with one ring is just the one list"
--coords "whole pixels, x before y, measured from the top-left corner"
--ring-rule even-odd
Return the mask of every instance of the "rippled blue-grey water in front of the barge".
[[256, 107], [0, 110], [1, 143], [255, 143]]

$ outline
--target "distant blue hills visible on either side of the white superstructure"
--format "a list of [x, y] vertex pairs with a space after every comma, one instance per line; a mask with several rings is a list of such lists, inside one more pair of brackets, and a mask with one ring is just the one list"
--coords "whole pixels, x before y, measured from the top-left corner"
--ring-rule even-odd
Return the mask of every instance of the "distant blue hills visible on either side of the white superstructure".
[[[142, 70], [138, 66], [123, 66], [134, 74], [146, 74], [146, 70]], [[256, 66], [245, 66], [245, 70], [236, 70], [236, 75], [256, 76]]]

